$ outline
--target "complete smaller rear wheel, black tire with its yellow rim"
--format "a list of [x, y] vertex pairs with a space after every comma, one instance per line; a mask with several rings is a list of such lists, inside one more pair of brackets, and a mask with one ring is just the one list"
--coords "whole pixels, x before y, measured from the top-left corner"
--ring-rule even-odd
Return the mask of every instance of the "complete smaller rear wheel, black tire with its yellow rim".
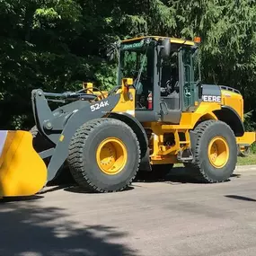
[[227, 181], [237, 163], [237, 146], [233, 130], [219, 120], [207, 120], [194, 130], [198, 134], [193, 148], [195, 163], [184, 164], [190, 175], [209, 183]]

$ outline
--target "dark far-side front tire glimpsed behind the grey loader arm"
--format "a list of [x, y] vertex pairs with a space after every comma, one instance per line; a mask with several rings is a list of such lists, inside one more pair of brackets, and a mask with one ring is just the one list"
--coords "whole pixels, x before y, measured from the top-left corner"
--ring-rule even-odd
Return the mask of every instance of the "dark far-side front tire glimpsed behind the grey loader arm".
[[[51, 143], [47, 138], [43, 137], [38, 128], [36, 126], [32, 127], [31, 130], [31, 135], [33, 137], [32, 140], [32, 145], [37, 153], [40, 153], [44, 150], [47, 150], [54, 146], [53, 143]], [[45, 158], [43, 161], [46, 164], [46, 166], [49, 165], [49, 160], [50, 157]], [[49, 181], [48, 185], [49, 186], [55, 186], [55, 185], [62, 185], [62, 184], [72, 184], [74, 183], [73, 176], [71, 175], [69, 171], [69, 167], [67, 162], [65, 162], [61, 167], [60, 167], [60, 172], [58, 173], [56, 179], [53, 181]]]

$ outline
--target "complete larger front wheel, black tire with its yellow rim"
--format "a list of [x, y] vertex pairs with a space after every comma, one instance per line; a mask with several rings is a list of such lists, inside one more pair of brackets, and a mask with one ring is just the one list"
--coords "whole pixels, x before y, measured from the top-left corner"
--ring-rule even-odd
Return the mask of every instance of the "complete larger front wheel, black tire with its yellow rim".
[[[106, 145], [100, 153], [103, 141]], [[75, 181], [85, 190], [125, 190], [137, 175], [139, 142], [124, 122], [94, 119], [77, 129], [69, 146], [67, 162]]]

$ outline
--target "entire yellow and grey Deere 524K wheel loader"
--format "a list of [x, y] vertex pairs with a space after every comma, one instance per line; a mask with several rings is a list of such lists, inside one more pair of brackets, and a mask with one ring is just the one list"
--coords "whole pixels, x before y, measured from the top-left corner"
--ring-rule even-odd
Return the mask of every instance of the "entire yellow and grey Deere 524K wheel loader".
[[[243, 95], [201, 81], [200, 39], [146, 36], [110, 46], [117, 85], [102, 92], [31, 92], [35, 127], [0, 132], [0, 197], [38, 193], [70, 170], [86, 190], [125, 190], [139, 175], [164, 177], [183, 163], [199, 181], [227, 181], [255, 142]], [[57, 104], [57, 106], [56, 106]]]

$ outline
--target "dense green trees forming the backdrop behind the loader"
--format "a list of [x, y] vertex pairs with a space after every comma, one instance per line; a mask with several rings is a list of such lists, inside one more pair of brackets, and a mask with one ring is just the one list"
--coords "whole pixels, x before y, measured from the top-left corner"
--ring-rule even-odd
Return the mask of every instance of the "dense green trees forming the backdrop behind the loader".
[[[0, 0], [0, 128], [30, 128], [31, 90], [103, 90], [116, 64], [101, 49], [140, 35], [202, 38], [204, 82], [241, 90], [256, 108], [256, 4], [252, 0]], [[255, 128], [253, 115], [245, 119]]]

